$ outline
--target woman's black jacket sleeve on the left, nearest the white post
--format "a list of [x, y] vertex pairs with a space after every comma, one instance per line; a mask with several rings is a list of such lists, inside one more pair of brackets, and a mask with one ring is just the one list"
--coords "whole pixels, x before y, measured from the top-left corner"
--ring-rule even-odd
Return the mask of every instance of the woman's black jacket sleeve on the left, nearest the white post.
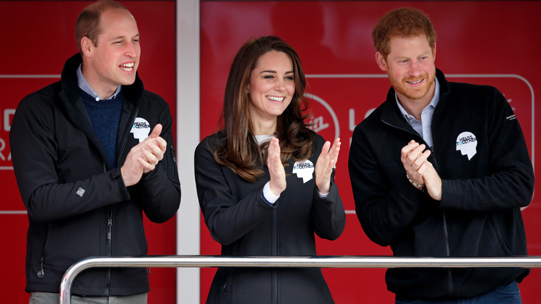
[[263, 185], [237, 201], [228, 185], [237, 180], [226, 180], [223, 170], [228, 169], [214, 160], [209, 142], [207, 137], [195, 152], [197, 195], [210, 235], [216, 242], [227, 246], [257, 226], [261, 219], [268, 217], [277, 203], [270, 205], [263, 199]]

